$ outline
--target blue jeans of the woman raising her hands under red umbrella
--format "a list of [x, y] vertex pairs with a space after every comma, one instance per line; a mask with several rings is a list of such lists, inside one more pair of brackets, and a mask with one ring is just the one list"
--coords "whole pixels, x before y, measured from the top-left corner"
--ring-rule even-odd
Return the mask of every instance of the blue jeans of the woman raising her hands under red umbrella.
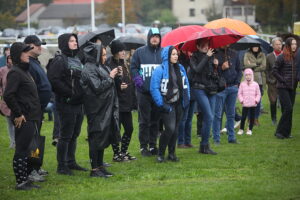
[[216, 102], [216, 95], [207, 95], [204, 90], [192, 89], [198, 107], [203, 114], [202, 140], [201, 145], [209, 144], [209, 134], [214, 118], [214, 108]]

